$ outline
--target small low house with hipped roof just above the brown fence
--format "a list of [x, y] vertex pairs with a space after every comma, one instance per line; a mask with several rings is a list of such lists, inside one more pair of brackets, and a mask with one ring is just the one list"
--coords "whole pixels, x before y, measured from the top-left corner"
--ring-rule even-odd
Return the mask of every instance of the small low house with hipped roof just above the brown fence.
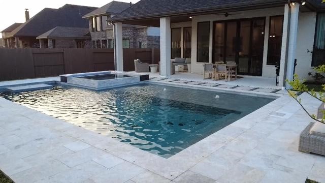
[[41, 48], [90, 48], [88, 28], [57, 26], [38, 36]]

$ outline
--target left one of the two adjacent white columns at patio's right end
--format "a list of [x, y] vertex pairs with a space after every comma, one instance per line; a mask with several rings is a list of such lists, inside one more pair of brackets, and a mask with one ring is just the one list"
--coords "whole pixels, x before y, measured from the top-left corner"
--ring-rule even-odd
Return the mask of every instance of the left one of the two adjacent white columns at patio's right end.
[[288, 38], [288, 22], [289, 22], [289, 6], [284, 5], [284, 18], [283, 18], [283, 29], [282, 29], [282, 45], [281, 45], [281, 58], [280, 58], [280, 73], [279, 73], [279, 86], [283, 86], [285, 82], [284, 71], [285, 71], [285, 59], [286, 59], [286, 48]]

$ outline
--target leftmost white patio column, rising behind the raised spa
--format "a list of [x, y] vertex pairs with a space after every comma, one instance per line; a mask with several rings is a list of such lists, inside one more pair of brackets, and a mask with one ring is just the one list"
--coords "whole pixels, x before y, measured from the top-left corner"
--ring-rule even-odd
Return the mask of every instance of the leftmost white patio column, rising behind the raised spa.
[[118, 22], [115, 23], [115, 39], [114, 39], [114, 46], [115, 48], [115, 55], [116, 55], [116, 71], [123, 71], [123, 35], [122, 35], [122, 23]]

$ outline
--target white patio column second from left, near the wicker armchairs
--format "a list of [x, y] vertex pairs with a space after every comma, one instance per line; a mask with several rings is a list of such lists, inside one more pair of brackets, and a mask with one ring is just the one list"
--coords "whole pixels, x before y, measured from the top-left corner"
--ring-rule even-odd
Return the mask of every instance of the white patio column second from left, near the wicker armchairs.
[[171, 75], [171, 19], [160, 18], [160, 75]]

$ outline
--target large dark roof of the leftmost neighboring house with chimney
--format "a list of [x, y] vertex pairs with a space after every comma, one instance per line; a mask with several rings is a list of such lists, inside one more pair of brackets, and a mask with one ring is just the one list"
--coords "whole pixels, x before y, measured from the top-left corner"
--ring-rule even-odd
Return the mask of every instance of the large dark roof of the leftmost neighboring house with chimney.
[[64, 5], [59, 9], [45, 8], [34, 17], [14, 29], [6, 38], [17, 36], [37, 37], [56, 26], [84, 27], [88, 21], [82, 16], [95, 10], [95, 7]]

